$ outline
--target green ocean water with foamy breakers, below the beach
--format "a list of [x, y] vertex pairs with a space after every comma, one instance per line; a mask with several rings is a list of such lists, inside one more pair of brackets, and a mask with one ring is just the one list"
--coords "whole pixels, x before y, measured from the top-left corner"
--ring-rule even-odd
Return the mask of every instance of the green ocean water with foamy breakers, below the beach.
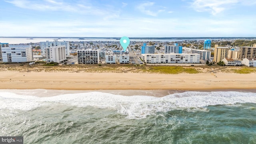
[[0, 90], [0, 136], [23, 136], [24, 144], [256, 144], [256, 93]]

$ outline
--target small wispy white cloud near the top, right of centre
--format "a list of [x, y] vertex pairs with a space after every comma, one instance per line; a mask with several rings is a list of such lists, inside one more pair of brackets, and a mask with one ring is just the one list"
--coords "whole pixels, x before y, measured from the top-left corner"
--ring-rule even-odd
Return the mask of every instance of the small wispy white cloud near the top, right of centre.
[[[154, 2], [145, 2], [137, 6], [137, 9], [149, 16], [157, 16], [160, 12], [165, 11], [165, 10], [152, 11], [156, 9], [154, 7], [151, 7], [151, 6], [154, 6], [154, 4], [155, 4]], [[150, 8], [152, 8], [152, 10], [150, 10]]]

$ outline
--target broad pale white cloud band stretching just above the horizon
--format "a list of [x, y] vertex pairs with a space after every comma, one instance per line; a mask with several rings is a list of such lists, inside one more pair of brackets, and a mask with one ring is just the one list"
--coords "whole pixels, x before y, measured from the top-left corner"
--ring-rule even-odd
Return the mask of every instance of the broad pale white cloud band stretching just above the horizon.
[[[4, 36], [95, 36], [95, 37], [202, 37], [254, 36], [250, 17], [239, 20], [209, 18], [118, 18], [114, 20], [58, 20], [39, 22], [0, 21]], [[205, 24], [205, 21], [208, 24]], [[189, 21], [189, 22], [188, 22]], [[244, 21], [248, 21], [244, 23]], [[242, 27], [241, 27], [242, 26]]]

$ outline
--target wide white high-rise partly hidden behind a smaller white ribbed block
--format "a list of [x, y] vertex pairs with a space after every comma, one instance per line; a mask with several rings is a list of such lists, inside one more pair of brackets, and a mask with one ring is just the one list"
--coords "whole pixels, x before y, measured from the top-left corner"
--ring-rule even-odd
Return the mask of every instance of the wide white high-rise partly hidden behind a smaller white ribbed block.
[[66, 56], [70, 56], [70, 51], [69, 51], [69, 42], [62, 41], [59, 42], [58, 39], [54, 39], [53, 42], [49, 42], [48, 40], [46, 42], [40, 42], [40, 47], [41, 47], [41, 55], [46, 56], [45, 49], [50, 48], [52, 46], [62, 46], [65, 45], [66, 48]]

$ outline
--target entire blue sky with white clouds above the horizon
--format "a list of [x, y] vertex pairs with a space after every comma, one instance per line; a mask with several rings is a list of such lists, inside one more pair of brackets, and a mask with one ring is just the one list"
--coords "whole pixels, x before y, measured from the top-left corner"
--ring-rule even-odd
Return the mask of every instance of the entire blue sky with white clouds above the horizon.
[[256, 36], [256, 0], [0, 0], [0, 36]]

